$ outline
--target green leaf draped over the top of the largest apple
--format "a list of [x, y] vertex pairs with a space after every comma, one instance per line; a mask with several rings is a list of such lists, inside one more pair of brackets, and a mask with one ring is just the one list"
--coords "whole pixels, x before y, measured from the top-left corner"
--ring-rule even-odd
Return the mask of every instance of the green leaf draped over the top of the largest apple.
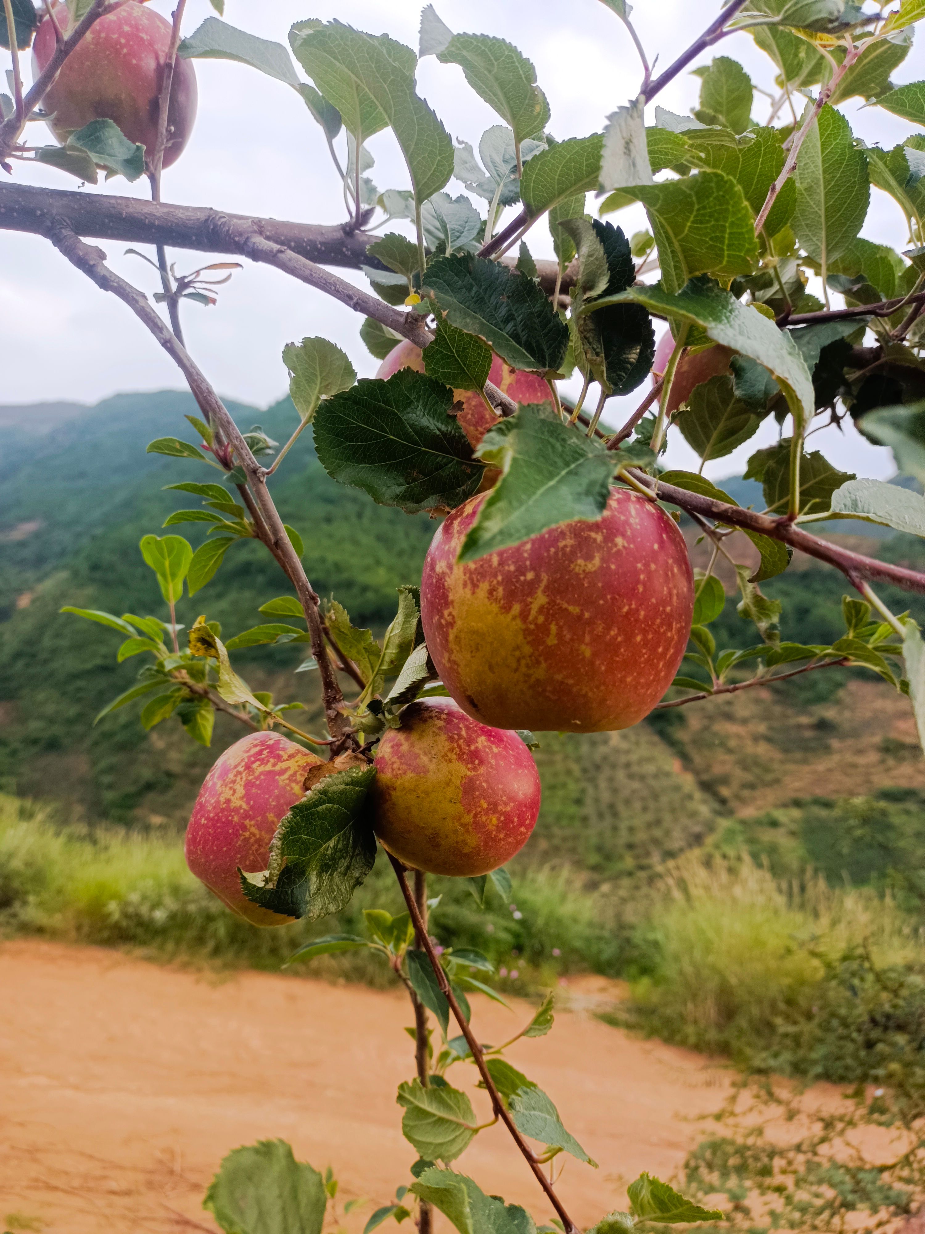
[[543, 406], [520, 407], [486, 433], [477, 453], [503, 474], [465, 538], [461, 561], [519, 544], [559, 523], [596, 522], [604, 512], [617, 459]]

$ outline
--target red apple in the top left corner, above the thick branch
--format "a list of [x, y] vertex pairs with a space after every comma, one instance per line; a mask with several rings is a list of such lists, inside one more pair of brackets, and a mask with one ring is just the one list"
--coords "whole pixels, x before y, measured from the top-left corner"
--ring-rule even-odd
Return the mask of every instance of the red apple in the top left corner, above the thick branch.
[[[57, 4], [56, 17], [67, 30], [68, 9]], [[148, 155], [158, 139], [158, 115], [164, 63], [171, 27], [142, 0], [128, 0], [109, 17], [101, 17], [70, 53], [57, 80], [44, 96], [52, 112], [49, 128], [64, 143], [91, 120], [111, 120], [132, 142], [141, 142]], [[52, 58], [54, 27], [46, 17], [32, 44], [33, 73]], [[164, 167], [184, 151], [196, 118], [196, 73], [190, 60], [176, 58], [168, 110]]]

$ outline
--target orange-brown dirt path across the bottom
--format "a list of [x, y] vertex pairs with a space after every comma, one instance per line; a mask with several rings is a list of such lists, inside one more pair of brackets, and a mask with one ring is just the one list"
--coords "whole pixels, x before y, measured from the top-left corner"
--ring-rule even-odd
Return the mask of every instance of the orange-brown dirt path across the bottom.
[[[482, 1040], [529, 1014], [474, 998]], [[370, 1198], [342, 1223], [361, 1230], [414, 1160], [395, 1104], [412, 1072], [408, 1022], [401, 992], [255, 972], [220, 981], [95, 948], [0, 944], [0, 1230], [211, 1234], [200, 1204], [220, 1160], [275, 1137], [331, 1164], [339, 1198]], [[728, 1082], [697, 1055], [576, 1012], [511, 1060], [601, 1162], [569, 1159], [561, 1180], [582, 1225], [623, 1207], [641, 1170], [670, 1176], [698, 1138], [689, 1119], [715, 1109]], [[538, 1220], [551, 1215], [501, 1128], [458, 1167]]]

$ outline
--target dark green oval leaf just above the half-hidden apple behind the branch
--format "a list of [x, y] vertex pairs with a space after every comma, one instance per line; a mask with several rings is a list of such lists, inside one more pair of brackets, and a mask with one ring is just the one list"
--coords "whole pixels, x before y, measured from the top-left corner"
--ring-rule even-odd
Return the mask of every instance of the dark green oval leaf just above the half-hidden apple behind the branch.
[[497, 262], [462, 253], [438, 258], [427, 269], [424, 294], [451, 326], [483, 338], [513, 368], [556, 373], [565, 359], [569, 327], [546, 294]]

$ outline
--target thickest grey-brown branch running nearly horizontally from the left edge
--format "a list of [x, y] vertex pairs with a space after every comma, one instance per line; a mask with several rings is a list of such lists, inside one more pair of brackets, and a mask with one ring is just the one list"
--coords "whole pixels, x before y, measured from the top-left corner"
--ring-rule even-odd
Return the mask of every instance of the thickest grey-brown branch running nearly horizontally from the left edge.
[[[352, 231], [347, 225], [294, 223], [109, 194], [38, 189], [25, 184], [0, 185], [0, 230], [44, 236], [52, 218], [64, 220], [73, 232], [86, 239], [165, 244], [168, 248], [186, 248], [199, 253], [232, 254], [239, 251], [233, 247], [231, 237], [222, 232], [222, 225], [244, 223], [254, 234], [322, 265], [356, 270], [360, 265], [375, 268], [381, 264], [366, 255], [366, 247], [381, 237]], [[514, 265], [516, 259], [504, 259], [504, 264]], [[543, 290], [551, 295], [559, 264], [536, 262], [536, 269]], [[570, 288], [574, 279], [575, 269], [570, 267], [562, 276], [562, 289]]]

